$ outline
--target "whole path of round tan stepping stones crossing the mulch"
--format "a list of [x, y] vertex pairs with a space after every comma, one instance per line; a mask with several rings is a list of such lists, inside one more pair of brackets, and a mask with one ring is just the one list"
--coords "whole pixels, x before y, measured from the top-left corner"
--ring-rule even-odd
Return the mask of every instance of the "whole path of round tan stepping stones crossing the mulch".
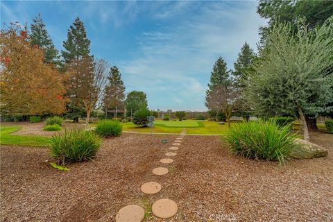
[[[180, 136], [174, 141], [173, 146], [169, 147], [171, 151], [177, 151], [181, 139], [186, 135], [186, 130], [182, 130]], [[165, 153], [167, 156], [175, 156], [177, 153]], [[170, 164], [173, 162], [170, 158], [160, 160], [162, 164]], [[155, 175], [161, 176], [167, 174], [169, 170], [166, 167], [157, 167], [153, 169]], [[144, 194], [157, 194], [162, 189], [162, 185], [158, 182], [145, 182], [141, 185], [141, 191]], [[169, 199], [156, 200], [151, 207], [153, 214], [159, 218], [167, 219], [174, 216], [178, 211], [178, 205], [175, 201]], [[138, 205], [127, 205], [116, 214], [116, 222], [140, 222], [144, 219], [144, 209]]]

